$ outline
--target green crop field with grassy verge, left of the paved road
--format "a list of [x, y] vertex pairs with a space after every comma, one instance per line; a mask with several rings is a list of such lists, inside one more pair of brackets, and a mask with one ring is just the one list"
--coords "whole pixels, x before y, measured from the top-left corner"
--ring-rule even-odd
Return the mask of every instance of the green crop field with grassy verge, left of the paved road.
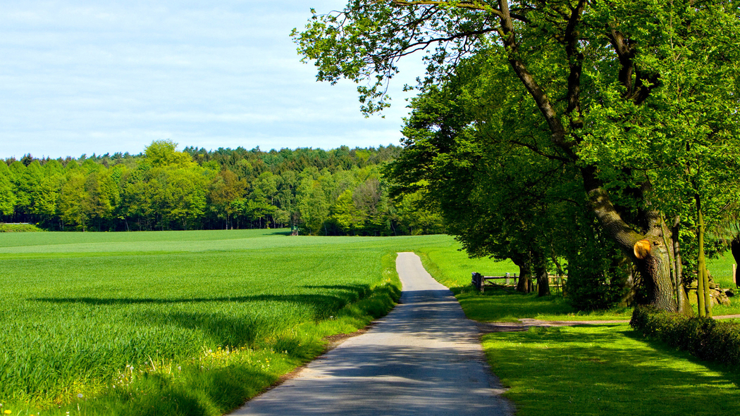
[[[0, 409], [221, 415], [392, 306], [449, 236], [0, 234]], [[70, 413], [67, 413], [70, 412]]]

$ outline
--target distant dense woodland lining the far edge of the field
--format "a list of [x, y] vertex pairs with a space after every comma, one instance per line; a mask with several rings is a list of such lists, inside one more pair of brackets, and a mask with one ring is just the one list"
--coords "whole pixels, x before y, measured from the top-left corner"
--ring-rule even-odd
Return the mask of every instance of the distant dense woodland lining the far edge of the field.
[[377, 149], [261, 151], [157, 140], [141, 154], [0, 163], [0, 222], [58, 231], [300, 228], [322, 235], [442, 232], [419, 195], [391, 201]]

